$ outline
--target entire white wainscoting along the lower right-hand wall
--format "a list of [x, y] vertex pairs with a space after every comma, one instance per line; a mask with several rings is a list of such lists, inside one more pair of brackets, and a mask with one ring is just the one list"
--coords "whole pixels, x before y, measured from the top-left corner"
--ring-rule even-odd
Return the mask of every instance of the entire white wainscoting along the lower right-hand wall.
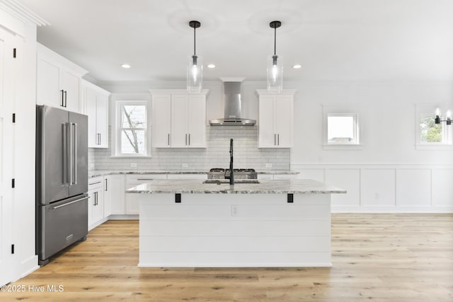
[[348, 190], [332, 212], [453, 213], [452, 164], [292, 163], [299, 178]]

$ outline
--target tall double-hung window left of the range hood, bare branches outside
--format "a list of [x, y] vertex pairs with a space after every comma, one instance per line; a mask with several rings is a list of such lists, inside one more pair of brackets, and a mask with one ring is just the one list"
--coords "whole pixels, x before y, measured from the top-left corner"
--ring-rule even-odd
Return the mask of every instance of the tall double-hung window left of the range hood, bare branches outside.
[[117, 101], [113, 156], [149, 156], [147, 101]]

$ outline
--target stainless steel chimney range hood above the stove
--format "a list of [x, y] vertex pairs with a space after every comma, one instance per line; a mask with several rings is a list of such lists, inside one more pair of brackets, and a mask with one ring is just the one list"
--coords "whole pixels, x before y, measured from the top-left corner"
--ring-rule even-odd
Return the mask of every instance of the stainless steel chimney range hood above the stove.
[[253, 126], [256, 120], [241, 117], [241, 81], [224, 82], [224, 118], [210, 120], [211, 126]]

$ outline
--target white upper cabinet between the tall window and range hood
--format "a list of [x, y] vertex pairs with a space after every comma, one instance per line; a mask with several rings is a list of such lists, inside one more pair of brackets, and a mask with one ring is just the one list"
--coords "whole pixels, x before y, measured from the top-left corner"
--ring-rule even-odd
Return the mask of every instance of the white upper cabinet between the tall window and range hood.
[[205, 148], [207, 93], [151, 91], [153, 147]]

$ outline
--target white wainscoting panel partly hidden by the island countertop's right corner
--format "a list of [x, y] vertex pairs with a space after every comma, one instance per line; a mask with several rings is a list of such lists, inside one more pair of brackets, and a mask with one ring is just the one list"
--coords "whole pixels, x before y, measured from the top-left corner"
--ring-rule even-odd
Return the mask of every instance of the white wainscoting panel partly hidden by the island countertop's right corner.
[[359, 169], [327, 169], [326, 184], [348, 191], [346, 194], [332, 194], [332, 207], [360, 205]]

